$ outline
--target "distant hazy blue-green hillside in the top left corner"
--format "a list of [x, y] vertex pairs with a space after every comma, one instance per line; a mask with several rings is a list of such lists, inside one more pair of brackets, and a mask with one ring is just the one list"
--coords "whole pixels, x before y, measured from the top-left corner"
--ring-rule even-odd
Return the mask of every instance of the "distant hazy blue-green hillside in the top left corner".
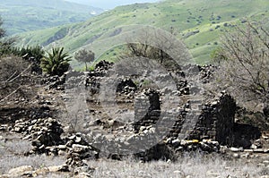
[[101, 12], [99, 8], [64, 0], [0, 0], [0, 15], [10, 35], [86, 21]]

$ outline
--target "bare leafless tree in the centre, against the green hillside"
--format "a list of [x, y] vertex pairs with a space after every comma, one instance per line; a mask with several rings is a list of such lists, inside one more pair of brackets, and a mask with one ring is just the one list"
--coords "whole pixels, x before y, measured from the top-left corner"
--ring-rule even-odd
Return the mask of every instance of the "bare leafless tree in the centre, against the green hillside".
[[186, 47], [175, 38], [172, 28], [165, 32], [155, 29], [140, 30], [135, 36], [130, 37], [131, 39], [126, 38], [126, 51], [118, 57], [119, 60], [141, 56], [156, 60], [167, 70], [175, 70], [180, 68], [178, 64], [183, 64], [184, 60], [190, 58], [185, 51]]

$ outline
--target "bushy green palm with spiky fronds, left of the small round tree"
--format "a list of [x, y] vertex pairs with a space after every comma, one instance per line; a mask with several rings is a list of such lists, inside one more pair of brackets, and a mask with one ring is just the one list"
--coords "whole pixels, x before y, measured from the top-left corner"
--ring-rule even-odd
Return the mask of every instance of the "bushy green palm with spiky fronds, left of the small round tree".
[[64, 47], [52, 48], [52, 53], [47, 52], [41, 59], [40, 67], [43, 72], [49, 75], [63, 75], [69, 67], [71, 57], [64, 53]]

